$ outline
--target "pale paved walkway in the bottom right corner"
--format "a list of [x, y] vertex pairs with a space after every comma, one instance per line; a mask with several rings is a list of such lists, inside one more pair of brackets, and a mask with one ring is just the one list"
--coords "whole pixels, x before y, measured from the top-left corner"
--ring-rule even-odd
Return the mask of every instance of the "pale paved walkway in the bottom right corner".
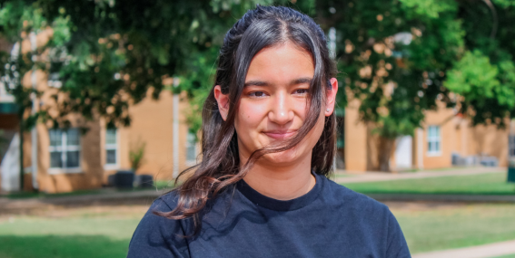
[[515, 253], [515, 240], [466, 248], [419, 253], [413, 258], [491, 258]]

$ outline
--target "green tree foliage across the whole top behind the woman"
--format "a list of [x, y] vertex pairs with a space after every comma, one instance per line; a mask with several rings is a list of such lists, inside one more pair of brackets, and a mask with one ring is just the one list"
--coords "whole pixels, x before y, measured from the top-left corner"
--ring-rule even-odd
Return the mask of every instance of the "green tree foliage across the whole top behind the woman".
[[32, 121], [39, 116], [66, 126], [66, 115], [75, 112], [121, 126], [130, 125], [130, 104], [147, 94], [158, 98], [172, 90], [163, 81], [179, 77], [174, 91], [186, 92], [187, 123], [195, 132], [223, 35], [256, 4], [289, 5], [312, 15], [325, 31], [335, 28], [336, 61], [347, 90], [340, 91], [339, 105], [360, 100], [361, 120], [386, 141], [412, 134], [439, 103], [474, 124], [502, 126], [515, 116], [510, 0], [4, 1], [0, 33], [10, 43], [53, 32], [34, 52], [0, 55], [8, 68], [4, 78], [11, 80], [5, 85], [25, 111], [39, 92], [17, 87], [16, 74], [58, 74], [66, 95], [58, 114], [42, 110]]

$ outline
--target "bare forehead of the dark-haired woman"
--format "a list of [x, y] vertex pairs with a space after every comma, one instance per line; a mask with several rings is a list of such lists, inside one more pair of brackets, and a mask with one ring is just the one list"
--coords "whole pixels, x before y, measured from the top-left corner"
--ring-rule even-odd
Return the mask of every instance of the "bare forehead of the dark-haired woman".
[[246, 81], [266, 81], [281, 85], [299, 78], [312, 78], [314, 63], [311, 53], [286, 42], [262, 49], [249, 66]]

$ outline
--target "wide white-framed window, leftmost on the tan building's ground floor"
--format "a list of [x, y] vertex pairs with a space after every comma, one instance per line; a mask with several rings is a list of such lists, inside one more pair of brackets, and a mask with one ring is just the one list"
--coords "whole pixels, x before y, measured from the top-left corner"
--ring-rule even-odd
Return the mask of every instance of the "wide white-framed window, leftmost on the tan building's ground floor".
[[49, 134], [50, 168], [79, 168], [81, 152], [79, 130], [50, 129]]

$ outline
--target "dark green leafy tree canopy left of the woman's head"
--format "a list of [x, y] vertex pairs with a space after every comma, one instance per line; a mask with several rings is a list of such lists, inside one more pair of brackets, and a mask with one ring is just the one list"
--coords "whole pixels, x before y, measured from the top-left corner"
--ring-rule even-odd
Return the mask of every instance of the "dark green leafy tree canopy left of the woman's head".
[[[6, 90], [15, 96], [20, 132], [34, 127], [38, 119], [50, 119], [54, 127], [69, 127], [70, 113], [81, 114], [85, 119], [104, 117], [109, 127], [130, 125], [130, 103], [143, 100], [148, 91], [157, 99], [167, 77], [188, 78], [194, 73], [188, 69], [198, 66], [194, 58], [213, 56], [213, 45], [222, 42], [233, 17], [256, 4], [270, 3], [3, 1], [0, 34], [7, 43], [18, 43], [19, 50], [0, 53], [0, 64], [5, 67], [1, 75]], [[53, 32], [48, 43], [22, 53], [22, 42], [29, 40], [31, 33], [48, 30]], [[31, 114], [33, 96], [39, 97], [41, 92], [24, 86], [22, 78], [37, 69], [58, 74], [62, 87], [54, 95], [56, 107]], [[182, 90], [200, 92], [195, 91], [198, 83], [184, 81], [191, 83], [184, 83]], [[65, 98], [60, 97], [62, 94]], [[49, 108], [56, 108], [57, 114], [49, 112]], [[20, 135], [23, 138], [23, 133]], [[23, 144], [20, 148], [23, 186]]]

